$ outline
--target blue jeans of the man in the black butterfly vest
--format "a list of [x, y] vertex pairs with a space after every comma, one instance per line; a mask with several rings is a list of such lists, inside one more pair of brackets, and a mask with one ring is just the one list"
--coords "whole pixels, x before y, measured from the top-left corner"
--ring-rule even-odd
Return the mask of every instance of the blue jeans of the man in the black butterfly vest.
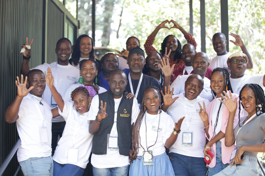
[[129, 166], [117, 167], [117, 168], [95, 168], [93, 167], [94, 176], [127, 176]]

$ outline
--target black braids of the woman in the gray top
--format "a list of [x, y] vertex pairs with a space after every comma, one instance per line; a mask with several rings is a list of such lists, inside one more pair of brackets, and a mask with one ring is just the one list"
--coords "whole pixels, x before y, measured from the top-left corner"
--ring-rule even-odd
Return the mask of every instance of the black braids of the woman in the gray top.
[[[242, 104], [242, 102], [241, 102], [241, 93], [242, 93], [242, 91], [243, 91], [243, 89], [244, 88], [247, 88], [247, 87], [249, 87], [249, 88], [251, 88], [252, 90], [253, 90], [253, 92], [254, 92], [254, 94], [255, 94], [255, 99], [256, 99], [256, 107], [258, 106], [258, 104], [260, 103], [261, 104], [261, 107], [262, 107], [262, 110], [261, 110], [261, 112], [262, 113], [264, 113], [265, 112], [265, 96], [264, 96], [264, 91], [263, 91], [263, 89], [260, 87], [260, 85], [258, 85], [258, 84], [245, 84], [243, 87], [242, 87], [242, 89], [241, 89], [241, 91], [240, 91], [240, 93], [239, 93], [239, 103], [241, 103], [241, 105], [242, 105], [242, 107], [244, 107], [244, 105]], [[259, 99], [259, 101], [258, 101], [258, 99]], [[241, 108], [240, 108], [240, 106], [239, 106], [239, 114], [238, 114], [238, 119], [239, 119], [239, 121], [238, 121], [238, 125], [239, 125], [239, 127], [242, 127], [242, 126], [240, 126], [240, 111], [241, 111]], [[259, 108], [256, 108], [256, 115], [258, 116], [258, 115], [260, 115], [260, 114], [258, 114], [258, 111], [259, 111]]]

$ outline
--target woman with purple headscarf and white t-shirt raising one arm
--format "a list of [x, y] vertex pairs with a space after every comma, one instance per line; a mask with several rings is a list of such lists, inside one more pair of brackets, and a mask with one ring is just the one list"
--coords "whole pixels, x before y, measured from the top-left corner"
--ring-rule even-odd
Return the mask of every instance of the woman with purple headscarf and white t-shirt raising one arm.
[[89, 133], [88, 111], [92, 98], [98, 94], [98, 90], [94, 85], [77, 87], [71, 94], [73, 103], [66, 102], [53, 86], [50, 67], [47, 75], [45, 72], [45, 79], [58, 104], [59, 113], [66, 122], [63, 136], [53, 155], [54, 176], [82, 176], [89, 162], [93, 138]]

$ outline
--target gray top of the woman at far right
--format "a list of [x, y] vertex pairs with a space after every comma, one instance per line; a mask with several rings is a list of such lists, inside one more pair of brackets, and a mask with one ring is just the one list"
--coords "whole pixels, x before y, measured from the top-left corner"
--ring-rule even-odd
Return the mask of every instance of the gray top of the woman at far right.
[[[244, 116], [240, 120], [240, 126], [243, 125], [245, 118], [248, 116]], [[240, 127], [237, 126], [235, 130], [235, 134]], [[238, 132], [237, 139], [237, 148], [242, 145], [257, 145], [262, 144], [265, 139], [265, 134], [263, 129], [265, 128], [265, 113], [255, 117], [253, 120], [248, 122], [246, 125], [242, 127], [242, 129]], [[250, 152], [245, 151], [246, 155], [257, 157], [258, 152]]]

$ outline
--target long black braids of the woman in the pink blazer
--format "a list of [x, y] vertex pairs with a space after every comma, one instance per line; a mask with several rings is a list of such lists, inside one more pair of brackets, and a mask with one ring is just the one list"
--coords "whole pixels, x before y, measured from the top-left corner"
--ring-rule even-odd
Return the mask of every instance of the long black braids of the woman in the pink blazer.
[[[219, 67], [218, 68], [215, 68], [213, 70], [212, 74], [211, 74], [211, 79], [212, 79], [212, 75], [215, 72], [223, 73], [223, 76], [224, 76], [224, 87], [223, 87], [223, 91], [226, 91], [226, 86], [227, 86], [227, 91], [231, 91], [231, 93], [233, 93], [233, 90], [232, 90], [232, 87], [231, 87], [231, 83], [230, 83], [229, 72], [226, 69], [223, 69], [223, 68], [219, 68]], [[216, 97], [216, 93], [214, 92], [213, 89], [211, 89], [211, 92], [212, 92], [213, 97], [215, 98]], [[224, 95], [224, 93], [222, 93], [222, 94]], [[222, 100], [223, 100], [223, 97], [222, 97]], [[214, 124], [213, 137], [215, 135], [215, 129], [217, 127], [218, 118], [219, 118], [219, 112], [220, 112], [221, 106], [222, 106], [222, 103], [220, 103], [220, 106], [219, 106], [219, 109], [218, 109], [218, 112], [217, 112], [217, 117], [216, 117], [216, 121], [215, 121], [215, 124]]]

